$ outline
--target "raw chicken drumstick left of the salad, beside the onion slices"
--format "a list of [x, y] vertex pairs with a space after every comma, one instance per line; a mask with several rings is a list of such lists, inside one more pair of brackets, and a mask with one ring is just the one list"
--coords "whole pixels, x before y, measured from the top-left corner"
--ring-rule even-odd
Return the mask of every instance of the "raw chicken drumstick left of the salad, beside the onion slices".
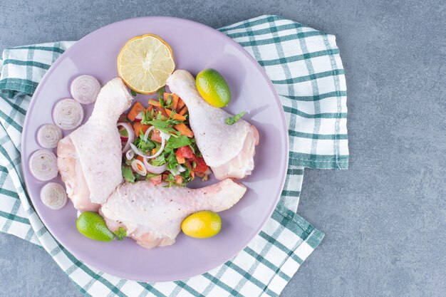
[[120, 78], [100, 90], [91, 117], [58, 142], [57, 165], [68, 197], [81, 212], [97, 212], [123, 181], [116, 123], [132, 96]]

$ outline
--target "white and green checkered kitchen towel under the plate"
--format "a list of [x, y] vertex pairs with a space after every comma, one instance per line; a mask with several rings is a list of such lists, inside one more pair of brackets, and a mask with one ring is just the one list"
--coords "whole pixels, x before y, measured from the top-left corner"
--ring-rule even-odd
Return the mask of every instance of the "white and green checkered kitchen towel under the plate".
[[259, 61], [284, 105], [290, 162], [279, 205], [234, 259], [165, 283], [127, 281], [92, 269], [53, 239], [28, 200], [20, 137], [31, 95], [73, 42], [6, 49], [0, 75], [0, 229], [43, 246], [88, 296], [279, 296], [323, 233], [296, 214], [304, 167], [346, 169], [346, 80], [335, 36], [279, 16], [219, 29]]

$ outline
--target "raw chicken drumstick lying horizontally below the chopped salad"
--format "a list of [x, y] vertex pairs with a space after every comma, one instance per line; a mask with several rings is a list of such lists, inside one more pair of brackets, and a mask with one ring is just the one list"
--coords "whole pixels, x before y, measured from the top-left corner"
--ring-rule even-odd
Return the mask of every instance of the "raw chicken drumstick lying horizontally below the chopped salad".
[[99, 212], [108, 229], [123, 227], [140, 246], [151, 249], [175, 243], [181, 222], [190, 214], [202, 210], [222, 212], [239, 202], [246, 190], [232, 179], [201, 189], [125, 182]]

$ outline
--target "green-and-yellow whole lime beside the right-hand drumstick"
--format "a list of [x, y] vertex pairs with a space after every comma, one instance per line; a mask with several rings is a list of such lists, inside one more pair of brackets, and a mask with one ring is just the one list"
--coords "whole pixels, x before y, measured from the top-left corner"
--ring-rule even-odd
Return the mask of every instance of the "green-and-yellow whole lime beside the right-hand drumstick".
[[231, 100], [229, 86], [223, 76], [212, 68], [207, 68], [198, 73], [197, 90], [207, 103], [216, 108], [228, 105]]

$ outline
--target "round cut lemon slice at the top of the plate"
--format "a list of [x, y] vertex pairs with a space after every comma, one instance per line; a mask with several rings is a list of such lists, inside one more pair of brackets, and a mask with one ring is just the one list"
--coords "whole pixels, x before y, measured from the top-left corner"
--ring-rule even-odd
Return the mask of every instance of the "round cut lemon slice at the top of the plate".
[[130, 39], [118, 56], [118, 73], [135, 92], [155, 93], [175, 69], [172, 48], [159, 36], [146, 34]]

